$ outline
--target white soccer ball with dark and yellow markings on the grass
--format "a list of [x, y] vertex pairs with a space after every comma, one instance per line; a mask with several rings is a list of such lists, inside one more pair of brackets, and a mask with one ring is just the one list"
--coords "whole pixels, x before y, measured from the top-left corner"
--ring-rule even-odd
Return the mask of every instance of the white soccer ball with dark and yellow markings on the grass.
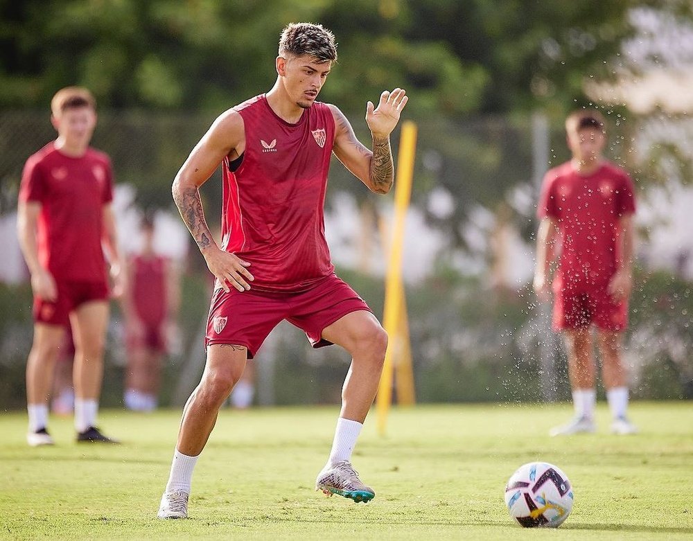
[[570, 515], [573, 499], [568, 476], [545, 462], [521, 465], [505, 486], [508, 512], [525, 528], [560, 526]]

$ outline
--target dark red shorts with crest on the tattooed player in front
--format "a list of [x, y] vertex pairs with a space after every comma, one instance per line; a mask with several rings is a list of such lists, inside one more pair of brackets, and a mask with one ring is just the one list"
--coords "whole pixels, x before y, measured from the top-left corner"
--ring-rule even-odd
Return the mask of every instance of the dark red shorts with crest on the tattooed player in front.
[[303, 330], [314, 348], [329, 346], [322, 338], [327, 326], [351, 312], [366, 310], [368, 305], [354, 290], [334, 274], [310, 290], [298, 293], [269, 293], [252, 289], [240, 292], [221, 288], [212, 295], [204, 346], [236, 344], [248, 349], [252, 359], [280, 321]]

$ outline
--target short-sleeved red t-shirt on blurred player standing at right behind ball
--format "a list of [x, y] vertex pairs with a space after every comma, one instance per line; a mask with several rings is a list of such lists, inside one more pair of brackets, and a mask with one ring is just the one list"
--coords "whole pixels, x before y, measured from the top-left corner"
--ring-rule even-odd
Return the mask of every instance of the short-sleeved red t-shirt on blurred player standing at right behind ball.
[[561, 241], [554, 289], [606, 287], [616, 271], [618, 220], [635, 212], [633, 182], [613, 163], [582, 176], [567, 162], [546, 173], [537, 214], [555, 218]]

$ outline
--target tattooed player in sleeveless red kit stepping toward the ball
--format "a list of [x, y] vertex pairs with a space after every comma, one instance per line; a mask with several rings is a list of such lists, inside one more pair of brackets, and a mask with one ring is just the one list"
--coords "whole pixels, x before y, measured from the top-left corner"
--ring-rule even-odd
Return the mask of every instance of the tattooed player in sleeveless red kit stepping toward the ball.
[[[337, 60], [335, 37], [320, 25], [289, 24], [279, 41], [277, 80], [211, 125], [179, 170], [173, 198], [216, 284], [202, 380], [183, 411], [160, 518], [187, 516], [191, 477], [220, 406], [269, 332], [286, 319], [314, 347], [337, 344], [352, 357], [333, 446], [316, 490], [367, 502], [374, 490], [351, 465], [371, 407], [387, 335], [368, 305], [337, 278], [324, 233], [331, 155], [375, 193], [394, 179], [389, 134], [407, 103], [403, 89], [366, 107], [372, 150], [334, 105], [317, 101]], [[222, 163], [222, 242], [213, 242], [198, 188]]]

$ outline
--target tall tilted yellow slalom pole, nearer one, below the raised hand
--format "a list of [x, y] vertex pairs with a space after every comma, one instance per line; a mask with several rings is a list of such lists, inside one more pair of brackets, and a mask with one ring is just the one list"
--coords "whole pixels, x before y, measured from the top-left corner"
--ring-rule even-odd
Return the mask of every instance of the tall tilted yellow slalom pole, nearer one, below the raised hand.
[[[383, 326], [390, 337], [396, 337], [401, 321], [402, 282], [402, 248], [404, 244], [404, 227], [407, 209], [412, 195], [412, 177], [414, 177], [414, 154], [416, 152], [416, 124], [412, 121], [402, 123], [402, 133], [397, 157], [397, 176], [394, 191], [394, 227], [390, 245], [387, 276], [385, 278], [385, 310]], [[387, 413], [392, 403], [392, 379], [394, 347], [388, 347], [385, 353], [383, 375], [378, 387], [378, 432], [385, 434]]]

